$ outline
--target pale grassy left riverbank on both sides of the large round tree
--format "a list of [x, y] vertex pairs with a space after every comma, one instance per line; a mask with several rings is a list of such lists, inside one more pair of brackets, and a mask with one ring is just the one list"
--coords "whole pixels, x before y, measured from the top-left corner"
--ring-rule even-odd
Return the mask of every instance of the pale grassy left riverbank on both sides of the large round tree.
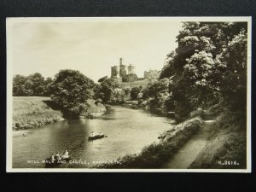
[[[14, 96], [13, 97], [13, 130], [28, 130], [64, 120], [61, 109], [57, 108], [49, 97]], [[106, 113], [102, 103], [87, 101], [88, 109], [81, 118], [96, 118]]]

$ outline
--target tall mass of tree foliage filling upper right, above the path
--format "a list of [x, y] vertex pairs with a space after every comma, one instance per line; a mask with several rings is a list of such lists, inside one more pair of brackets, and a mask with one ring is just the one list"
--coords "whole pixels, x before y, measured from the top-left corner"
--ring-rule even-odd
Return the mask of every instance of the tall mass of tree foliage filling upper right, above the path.
[[186, 117], [220, 101], [246, 108], [246, 22], [184, 22], [177, 44], [160, 74], [160, 79], [174, 77], [169, 109]]

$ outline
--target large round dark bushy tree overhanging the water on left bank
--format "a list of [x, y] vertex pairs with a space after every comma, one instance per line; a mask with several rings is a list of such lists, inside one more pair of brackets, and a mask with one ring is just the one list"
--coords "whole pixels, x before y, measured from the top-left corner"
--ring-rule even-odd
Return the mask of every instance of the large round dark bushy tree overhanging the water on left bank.
[[86, 100], [94, 82], [75, 70], [61, 70], [50, 84], [51, 99], [67, 110], [70, 115], [78, 116], [86, 110]]

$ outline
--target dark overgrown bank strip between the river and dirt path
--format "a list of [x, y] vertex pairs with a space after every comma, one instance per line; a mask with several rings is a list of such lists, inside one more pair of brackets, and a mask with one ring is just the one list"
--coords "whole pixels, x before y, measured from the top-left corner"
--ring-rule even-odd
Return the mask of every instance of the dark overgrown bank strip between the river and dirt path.
[[159, 143], [148, 145], [140, 154], [128, 154], [116, 160], [118, 163], [100, 164], [95, 168], [160, 168], [195, 134], [200, 125], [200, 118], [189, 119], [161, 134]]

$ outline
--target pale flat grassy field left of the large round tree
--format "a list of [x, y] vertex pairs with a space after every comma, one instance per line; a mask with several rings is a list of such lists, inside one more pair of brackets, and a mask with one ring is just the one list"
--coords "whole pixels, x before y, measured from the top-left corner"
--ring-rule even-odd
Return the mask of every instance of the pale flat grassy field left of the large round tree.
[[54, 110], [47, 104], [50, 102], [49, 97], [14, 96], [13, 98], [13, 130], [37, 128], [63, 119], [60, 110]]

